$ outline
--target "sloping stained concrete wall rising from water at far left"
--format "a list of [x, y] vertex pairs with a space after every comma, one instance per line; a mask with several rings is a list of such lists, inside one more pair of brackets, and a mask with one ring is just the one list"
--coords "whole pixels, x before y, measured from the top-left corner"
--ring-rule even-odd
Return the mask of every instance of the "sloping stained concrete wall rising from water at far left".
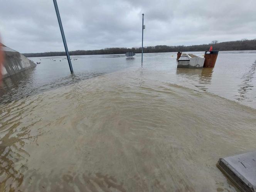
[[6, 47], [3, 44], [0, 44], [0, 46], [2, 46], [3, 55], [5, 58], [2, 68], [3, 78], [36, 66], [34, 62], [30, 61], [27, 57], [19, 52]]

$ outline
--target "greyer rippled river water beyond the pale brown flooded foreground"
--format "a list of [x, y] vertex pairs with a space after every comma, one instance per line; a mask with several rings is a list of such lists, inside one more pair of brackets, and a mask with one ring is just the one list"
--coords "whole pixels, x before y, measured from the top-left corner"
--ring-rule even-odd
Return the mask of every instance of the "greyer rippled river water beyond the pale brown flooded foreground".
[[[204, 52], [191, 53], [199, 56], [204, 54]], [[141, 67], [141, 54], [136, 54], [133, 59], [124, 55], [71, 56], [71, 58], [74, 75], [70, 75], [64, 56], [30, 58], [35, 63], [41, 62], [41, 64], [35, 69], [6, 78], [3, 81], [3, 88], [0, 88], [2, 97], [0, 101], [19, 99], [129, 67]], [[177, 69], [176, 53], [144, 54], [142, 69], [165, 71], [169, 75], [166, 79], [169, 83], [199, 92], [217, 94], [256, 108], [256, 51], [219, 52], [213, 69]]]

